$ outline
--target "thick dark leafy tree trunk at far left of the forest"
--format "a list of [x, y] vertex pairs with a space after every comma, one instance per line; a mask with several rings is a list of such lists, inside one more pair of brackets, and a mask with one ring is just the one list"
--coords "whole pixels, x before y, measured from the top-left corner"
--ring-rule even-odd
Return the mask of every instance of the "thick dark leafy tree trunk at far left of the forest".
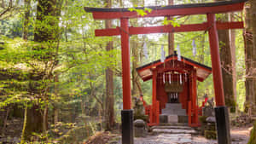
[[[38, 0], [38, 11], [34, 41], [38, 44], [32, 55], [34, 72], [42, 75], [42, 79], [32, 79], [29, 92], [34, 98], [32, 107], [27, 107], [24, 139], [28, 140], [32, 133], [45, 132], [48, 129], [49, 82], [53, 80], [53, 68], [57, 62], [58, 43], [60, 37], [59, 16], [62, 0]], [[39, 68], [40, 66], [44, 67]], [[44, 101], [44, 105], [40, 101]]]

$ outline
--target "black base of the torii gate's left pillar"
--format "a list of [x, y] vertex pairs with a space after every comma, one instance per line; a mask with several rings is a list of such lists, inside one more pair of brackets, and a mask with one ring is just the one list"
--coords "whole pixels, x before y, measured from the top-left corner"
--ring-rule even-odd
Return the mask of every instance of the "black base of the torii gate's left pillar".
[[133, 144], [133, 111], [122, 110], [122, 144]]

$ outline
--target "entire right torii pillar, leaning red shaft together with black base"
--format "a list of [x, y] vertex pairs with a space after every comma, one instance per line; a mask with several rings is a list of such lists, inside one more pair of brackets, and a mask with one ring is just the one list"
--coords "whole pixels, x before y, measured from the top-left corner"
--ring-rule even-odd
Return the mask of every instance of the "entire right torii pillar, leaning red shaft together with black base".
[[207, 14], [207, 21], [210, 26], [208, 31], [212, 58], [212, 75], [215, 93], [215, 117], [218, 133], [218, 144], [230, 144], [229, 112], [225, 107], [223, 78], [220, 66], [218, 31], [215, 21], [215, 14]]

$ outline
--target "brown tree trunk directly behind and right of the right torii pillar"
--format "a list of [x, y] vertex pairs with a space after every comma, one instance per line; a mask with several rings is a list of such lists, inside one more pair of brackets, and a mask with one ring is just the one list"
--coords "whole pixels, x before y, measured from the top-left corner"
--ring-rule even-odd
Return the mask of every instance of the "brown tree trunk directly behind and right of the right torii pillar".
[[[215, 0], [223, 1], [223, 0]], [[221, 21], [229, 20], [228, 14], [221, 14]], [[227, 107], [230, 107], [230, 112], [236, 112], [236, 100], [233, 87], [233, 69], [232, 57], [230, 48], [230, 33], [229, 30], [218, 31], [220, 60], [222, 64], [222, 77], [224, 85], [224, 98]]]

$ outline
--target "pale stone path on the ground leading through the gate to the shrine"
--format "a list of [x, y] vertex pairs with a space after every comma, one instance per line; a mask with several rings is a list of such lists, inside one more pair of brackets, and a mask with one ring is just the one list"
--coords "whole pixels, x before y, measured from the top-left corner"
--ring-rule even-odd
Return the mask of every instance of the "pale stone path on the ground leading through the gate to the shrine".
[[[134, 144], [218, 144], [218, 141], [207, 140], [201, 135], [195, 135], [194, 132], [183, 133], [183, 131], [193, 131], [187, 126], [168, 126], [167, 132], [154, 133], [154, 130], [166, 130], [166, 128], [166, 126], [157, 126], [146, 137], [134, 138]], [[247, 144], [248, 139], [248, 128], [233, 128], [231, 130], [231, 144]], [[109, 142], [109, 144], [121, 144], [121, 137], [118, 141]]]

